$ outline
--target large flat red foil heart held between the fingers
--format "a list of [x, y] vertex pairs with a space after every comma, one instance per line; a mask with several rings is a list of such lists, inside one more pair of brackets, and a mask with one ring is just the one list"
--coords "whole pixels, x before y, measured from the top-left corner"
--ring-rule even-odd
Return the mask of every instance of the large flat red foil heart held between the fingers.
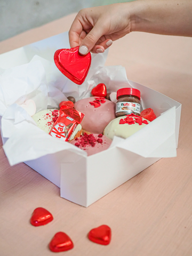
[[57, 50], [54, 54], [54, 62], [63, 75], [76, 84], [82, 84], [91, 66], [91, 53], [81, 55], [78, 49], [79, 46]]

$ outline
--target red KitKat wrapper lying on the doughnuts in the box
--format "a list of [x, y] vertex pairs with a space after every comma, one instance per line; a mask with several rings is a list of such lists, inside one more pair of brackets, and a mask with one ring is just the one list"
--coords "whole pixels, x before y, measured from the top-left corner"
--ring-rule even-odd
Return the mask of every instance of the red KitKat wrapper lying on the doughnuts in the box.
[[83, 113], [69, 106], [65, 106], [65, 108], [59, 110], [59, 117], [49, 134], [62, 141], [68, 141], [77, 125], [82, 122], [83, 117]]

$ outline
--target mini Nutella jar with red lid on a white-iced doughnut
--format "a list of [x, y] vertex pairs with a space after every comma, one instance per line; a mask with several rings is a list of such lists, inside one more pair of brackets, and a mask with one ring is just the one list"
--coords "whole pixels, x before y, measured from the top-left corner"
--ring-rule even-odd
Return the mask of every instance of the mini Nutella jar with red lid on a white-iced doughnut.
[[122, 88], [117, 91], [116, 117], [131, 113], [140, 116], [140, 91], [134, 88]]

